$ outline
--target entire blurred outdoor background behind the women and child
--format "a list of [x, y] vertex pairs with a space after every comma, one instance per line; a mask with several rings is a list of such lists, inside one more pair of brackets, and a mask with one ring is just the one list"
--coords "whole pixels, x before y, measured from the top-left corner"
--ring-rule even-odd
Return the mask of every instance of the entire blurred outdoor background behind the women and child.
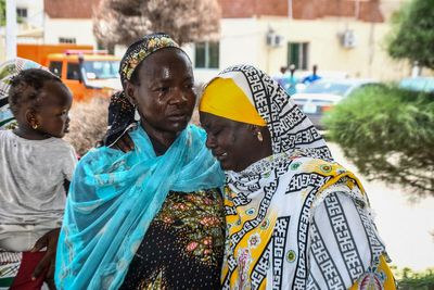
[[182, 45], [199, 89], [230, 65], [267, 72], [361, 177], [403, 289], [433, 289], [434, 0], [0, 0], [0, 61], [33, 59], [74, 92], [80, 154], [146, 33]]

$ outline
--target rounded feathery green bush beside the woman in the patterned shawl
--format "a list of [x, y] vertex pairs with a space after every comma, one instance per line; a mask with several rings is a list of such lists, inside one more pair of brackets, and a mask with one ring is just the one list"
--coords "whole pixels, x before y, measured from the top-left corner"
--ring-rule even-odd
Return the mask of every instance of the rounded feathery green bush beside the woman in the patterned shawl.
[[326, 116], [330, 138], [368, 179], [434, 196], [434, 96], [367, 88]]

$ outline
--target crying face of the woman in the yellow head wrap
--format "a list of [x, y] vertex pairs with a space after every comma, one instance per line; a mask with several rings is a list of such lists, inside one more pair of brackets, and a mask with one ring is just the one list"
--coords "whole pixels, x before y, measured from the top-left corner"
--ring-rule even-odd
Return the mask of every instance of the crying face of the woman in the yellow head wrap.
[[[225, 171], [242, 172], [250, 165], [272, 154], [271, 137], [267, 127], [231, 121], [200, 112], [206, 130], [206, 147]], [[258, 133], [263, 141], [258, 139]]]

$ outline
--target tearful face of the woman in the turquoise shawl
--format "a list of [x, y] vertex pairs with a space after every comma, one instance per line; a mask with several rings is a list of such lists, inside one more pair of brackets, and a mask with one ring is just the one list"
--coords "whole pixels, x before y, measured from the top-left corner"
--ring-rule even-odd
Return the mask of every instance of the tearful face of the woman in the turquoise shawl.
[[178, 49], [154, 52], [139, 66], [138, 84], [127, 85], [145, 129], [178, 134], [187, 127], [196, 94], [191, 62]]

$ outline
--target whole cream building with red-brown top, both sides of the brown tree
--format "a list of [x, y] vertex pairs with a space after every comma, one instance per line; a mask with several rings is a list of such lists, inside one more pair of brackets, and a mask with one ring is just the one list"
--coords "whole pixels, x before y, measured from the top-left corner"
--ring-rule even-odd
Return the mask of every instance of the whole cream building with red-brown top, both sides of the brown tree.
[[[18, 14], [28, 21], [18, 42], [97, 47], [92, 12], [99, 1], [17, 0]], [[201, 83], [240, 63], [270, 74], [289, 64], [306, 73], [317, 64], [319, 74], [330, 76], [392, 80], [410, 75], [408, 63], [391, 60], [383, 48], [387, 20], [406, 0], [218, 1], [219, 41], [186, 46]]]

